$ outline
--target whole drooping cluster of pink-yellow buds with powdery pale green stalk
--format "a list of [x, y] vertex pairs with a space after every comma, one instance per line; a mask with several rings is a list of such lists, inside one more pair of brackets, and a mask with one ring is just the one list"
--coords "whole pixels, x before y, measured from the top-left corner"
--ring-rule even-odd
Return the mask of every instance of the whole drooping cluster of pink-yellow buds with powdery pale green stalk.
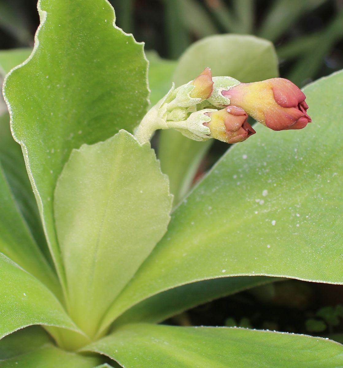
[[147, 141], [156, 129], [174, 128], [186, 137], [227, 143], [245, 141], [255, 130], [248, 115], [272, 130], [301, 129], [311, 121], [305, 95], [288, 79], [241, 83], [205, 70], [175, 89], [146, 114], [135, 136]]

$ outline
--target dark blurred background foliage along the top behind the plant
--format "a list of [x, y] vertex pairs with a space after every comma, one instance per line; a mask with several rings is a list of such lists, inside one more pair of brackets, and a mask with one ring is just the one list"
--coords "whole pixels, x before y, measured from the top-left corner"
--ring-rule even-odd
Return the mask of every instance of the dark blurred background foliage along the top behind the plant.
[[[303, 86], [343, 68], [343, 0], [110, 0], [117, 24], [177, 59], [194, 41], [217, 33], [271, 40], [280, 75]], [[36, 0], [0, 0], [0, 49], [33, 45]]]

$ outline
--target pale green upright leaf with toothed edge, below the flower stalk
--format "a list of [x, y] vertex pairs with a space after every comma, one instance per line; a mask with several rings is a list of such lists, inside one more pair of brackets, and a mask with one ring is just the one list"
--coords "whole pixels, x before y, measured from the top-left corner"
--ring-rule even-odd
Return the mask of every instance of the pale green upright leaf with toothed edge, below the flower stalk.
[[168, 178], [150, 144], [121, 130], [71, 153], [54, 198], [70, 314], [91, 336], [166, 232]]

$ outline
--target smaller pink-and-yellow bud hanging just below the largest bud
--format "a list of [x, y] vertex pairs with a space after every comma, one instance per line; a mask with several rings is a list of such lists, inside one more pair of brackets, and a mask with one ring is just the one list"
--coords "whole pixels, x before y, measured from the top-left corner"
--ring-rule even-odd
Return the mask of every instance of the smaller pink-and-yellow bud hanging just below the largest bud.
[[211, 137], [219, 139], [226, 143], [243, 142], [250, 135], [255, 134], [247, 122], [247, 113], [237, 106], [228, 106], [225, 109], [209, 112], [205, 115], [211, 118], [211, 121], [204, 123], [210, 128]]

